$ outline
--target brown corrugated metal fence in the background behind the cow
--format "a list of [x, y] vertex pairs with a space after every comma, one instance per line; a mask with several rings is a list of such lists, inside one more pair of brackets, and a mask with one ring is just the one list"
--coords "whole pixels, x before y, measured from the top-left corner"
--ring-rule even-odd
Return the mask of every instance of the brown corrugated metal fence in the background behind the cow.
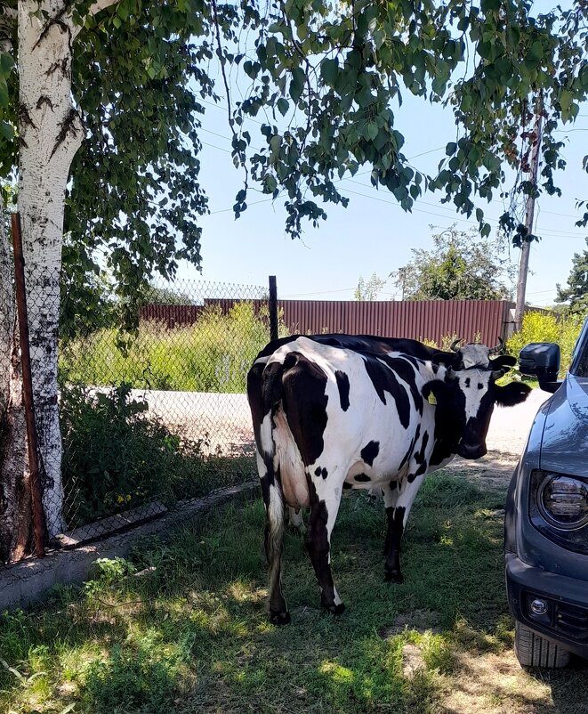
[[[254, 300], [255, 312], [267, 306]], [[203, 305], [146, 305], [141, 319], [164, 322], [170, 329], [196, 322], [206, 307], [228, 312], [234, 300], [208, 299]], [[291, 333], [324, 332], [412, 337], [436, 342], [456, 335], [468, 342], [494, 345], [507, 337], [514, 303], [504, 300], [423, 300], [358, 302], [343, 300], [278, 300], [280, 317]]]

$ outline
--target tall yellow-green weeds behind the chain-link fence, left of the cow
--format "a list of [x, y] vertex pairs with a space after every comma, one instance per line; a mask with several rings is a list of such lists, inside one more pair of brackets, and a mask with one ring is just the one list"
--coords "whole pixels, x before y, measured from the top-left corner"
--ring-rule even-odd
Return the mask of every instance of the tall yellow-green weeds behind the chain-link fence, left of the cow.
[[188, 327], [144, 321], [133, 335], [105, 328], [74, 340], [60, 353], [60, 381], [244, 393], [247, 371], [269, 337], [267, 314], [256, 315], [253, 304], [235, 303], [228, 313], [212, 305]]

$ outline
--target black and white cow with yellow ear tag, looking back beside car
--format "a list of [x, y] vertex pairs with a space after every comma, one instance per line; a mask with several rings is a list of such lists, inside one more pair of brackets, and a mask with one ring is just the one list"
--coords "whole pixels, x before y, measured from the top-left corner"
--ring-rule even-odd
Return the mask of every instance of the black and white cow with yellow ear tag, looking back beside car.
[[[435, 353], [416, 343], [420, 356], [408, 351], [411, 345], [394, 349], [403, 341], [318, 337], [270, 343], [247, 377], [266, 507], [270, 620], [277, 624], [289, 621], [281, 586], [286, 505], [310, 507], [307, 548], [321, 604], [342, 613], [330, 538], [343, 489], [383, 491], [384, 573], [386, 580], [401, 581], [400, 539], [424, 475], [455, 454], [483, 456], [495, 403], [512, 406], [529, 392], [520, 383], [495, 384], [516, 360], [490, 359], [493, 350], [484, 345]], [[325, 344], [331, 337], [335, 344]]]

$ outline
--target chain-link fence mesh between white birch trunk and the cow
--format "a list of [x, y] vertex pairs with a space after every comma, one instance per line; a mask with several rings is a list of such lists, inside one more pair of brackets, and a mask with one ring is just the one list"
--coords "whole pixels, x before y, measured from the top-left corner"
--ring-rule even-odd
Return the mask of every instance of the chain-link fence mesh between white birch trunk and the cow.
[[133, 329], [105, 310], [61, 340], [68, 531], [94, 536], [254, 477], [246, 375], [270, 339], [267, 288], [186, 280], [148, 292]]

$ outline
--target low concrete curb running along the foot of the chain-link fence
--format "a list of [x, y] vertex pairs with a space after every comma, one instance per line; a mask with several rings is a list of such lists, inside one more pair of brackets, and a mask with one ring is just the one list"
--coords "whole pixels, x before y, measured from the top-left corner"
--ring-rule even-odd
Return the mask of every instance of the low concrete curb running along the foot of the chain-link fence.
[[105, 536], [75, 549], [52, 550], [44, 558], [31, 558], [7, 565], [0, 570], [0, 612], [23, 607], [41, 599], [53, 585], [83, 582], [87, 580], [97, 558], [126, 556], [138, 540], [170, 531], [174, 526], [181, 525], [207, 508], [218, 506], [226, 500], [250, 499], [258, 486], [259, 482], [233, 486], [204, 499], [179, 504], [173, 511], [149, 523], [136, 526], [133, 530]]

